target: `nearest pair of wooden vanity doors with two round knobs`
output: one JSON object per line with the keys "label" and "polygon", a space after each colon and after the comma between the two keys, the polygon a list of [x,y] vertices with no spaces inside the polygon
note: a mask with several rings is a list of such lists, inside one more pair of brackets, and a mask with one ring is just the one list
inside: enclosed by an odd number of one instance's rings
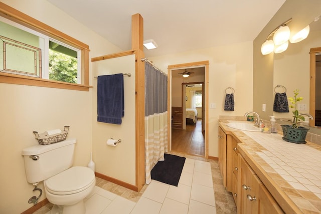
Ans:
{"label": "nearest pair of wooden vanity doors with two round knobs", "polygon": [[241,154],[238,164],[237,213],[284,213]]}

